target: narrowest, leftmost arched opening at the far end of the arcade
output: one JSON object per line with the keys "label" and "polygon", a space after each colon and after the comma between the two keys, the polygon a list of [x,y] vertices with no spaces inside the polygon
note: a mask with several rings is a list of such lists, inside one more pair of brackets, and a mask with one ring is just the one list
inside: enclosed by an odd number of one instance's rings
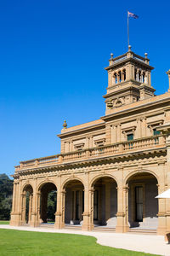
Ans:
{"label": "narrowest, leftmost arched opening at the far end of the arcade", "polygon": [[22,218],[23,224],[31,223],[32,197],[33,197],[33,189],[30,184],[27,184],[23,189],[23,194],[22,194],[21,218]]}

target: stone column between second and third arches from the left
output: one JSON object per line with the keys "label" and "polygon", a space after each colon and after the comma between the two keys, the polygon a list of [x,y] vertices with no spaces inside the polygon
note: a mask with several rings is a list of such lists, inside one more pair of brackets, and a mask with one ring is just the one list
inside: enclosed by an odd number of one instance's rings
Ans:
{"label": "stone column between second and third arches from the left", "polygon": [[55,229],[63,229],[65,227],[65,189],[57,191],[57,212],[55,212]]}

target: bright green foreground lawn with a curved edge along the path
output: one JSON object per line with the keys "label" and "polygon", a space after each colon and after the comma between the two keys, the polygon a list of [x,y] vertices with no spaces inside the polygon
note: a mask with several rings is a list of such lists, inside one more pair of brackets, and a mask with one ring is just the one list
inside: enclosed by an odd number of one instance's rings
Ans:
{"label": "bright green foreground lawn with a curved edge along the path", "polygon": [[100,246],[93,236],[0,230],[1,256],[146,256]]}

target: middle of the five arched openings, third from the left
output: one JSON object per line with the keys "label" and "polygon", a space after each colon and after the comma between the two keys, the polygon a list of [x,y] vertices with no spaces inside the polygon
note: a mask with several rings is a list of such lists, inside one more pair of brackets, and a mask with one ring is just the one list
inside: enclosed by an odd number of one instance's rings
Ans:
{"label": "middle of the five arched openings, third from the left", "polygon": [[84,212],[84,186],[79,180],[65,184],[65,224],[82,225]]}

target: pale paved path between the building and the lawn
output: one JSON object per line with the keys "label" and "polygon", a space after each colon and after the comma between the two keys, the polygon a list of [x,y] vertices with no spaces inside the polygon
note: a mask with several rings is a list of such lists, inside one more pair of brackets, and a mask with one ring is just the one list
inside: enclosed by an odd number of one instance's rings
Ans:
{"label": "pale paved path between the building and the lawn", "polygon": [[101,245],[122,248],[132,251],[160,254],[170,256],[170,244],[166,244],[163,236],[153,235],[135,235],[135,234],[120,234],[110,232],[94,232],[82,230],[54,230],[50,228],[31,228],[31,227],[13,227],[9,225],[0,225],[0,229],[8,230],[26,230],[37,232],[49,233],[64,233],[64,234],[77,234],[85,236],[94,236],[97,242]]}

